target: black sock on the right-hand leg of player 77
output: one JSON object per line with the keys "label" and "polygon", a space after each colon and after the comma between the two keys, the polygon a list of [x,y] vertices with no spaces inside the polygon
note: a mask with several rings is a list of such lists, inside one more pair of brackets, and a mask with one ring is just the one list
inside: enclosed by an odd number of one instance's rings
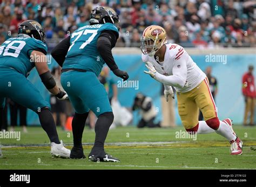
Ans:
{"label": "black sock on the right-hand leg of player 77", "polygon": [[95,124],[95,143],[90,155],[97,155],[98,153],[104,152],[104,142],[106,140],[107,133],[109,132],[109,127],[113,123],[113,119],[114,116],[112,112],[105,112],[98,116]]}

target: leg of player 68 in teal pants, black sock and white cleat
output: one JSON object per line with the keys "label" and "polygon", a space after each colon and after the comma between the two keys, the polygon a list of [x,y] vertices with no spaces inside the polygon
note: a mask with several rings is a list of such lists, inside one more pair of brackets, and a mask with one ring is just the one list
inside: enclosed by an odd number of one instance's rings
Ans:
{"label": "leg of player 68 in teal pants, black sock and white cleat", "polygon": [[[5,79],[1,84],[1,87],[5,90],[5,95],[38,114],[41,126],[51,141],[52,155],[69,157],[70,150],[66,149],[63,143],[59,141],[49,103],[43,99],[36,87],[23,75],[12,71],[6,74],[9,75],[8,80]],[[10,87],[8,87],[8,82],[11,82]]]}

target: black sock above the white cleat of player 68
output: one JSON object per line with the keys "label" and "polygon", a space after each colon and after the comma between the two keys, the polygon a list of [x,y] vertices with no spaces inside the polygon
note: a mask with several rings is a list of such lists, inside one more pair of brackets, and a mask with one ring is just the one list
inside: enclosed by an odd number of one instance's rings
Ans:
{"label": "black sock above the white cleat of player 68", "polygon": [[38,112],[39,121],[43,130],[47,133],[51,142],[59,144],[59,137],[56,130],[56,125],[52,117],[52,113],[48,108],[44,108]]}

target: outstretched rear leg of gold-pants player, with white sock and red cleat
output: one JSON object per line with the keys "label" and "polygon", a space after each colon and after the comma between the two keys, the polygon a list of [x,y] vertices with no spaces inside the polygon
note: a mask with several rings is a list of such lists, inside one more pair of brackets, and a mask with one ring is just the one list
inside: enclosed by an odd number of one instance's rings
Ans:
{"label": "outstretched rear leg of gold-pants player, with white sock and red cleat", "polygon": [[238,146],[236,149],[239,150],[233,150],[231,154],[241,154],[242,143],[240,143],[240,139],[235,135],[232,128],[232,123],[227,123],[227,121],[231,120],[226,119],[224,121],[220,121],[218,118],[217,109],[208,85],[207,78],[200,84],[199,89],[197,89],[195,93],[196,103],[203,113],[206,124],[215,130],[216,133],[224,136],[224,138],[226,138],[230,143],[234,143],[235,146]]}

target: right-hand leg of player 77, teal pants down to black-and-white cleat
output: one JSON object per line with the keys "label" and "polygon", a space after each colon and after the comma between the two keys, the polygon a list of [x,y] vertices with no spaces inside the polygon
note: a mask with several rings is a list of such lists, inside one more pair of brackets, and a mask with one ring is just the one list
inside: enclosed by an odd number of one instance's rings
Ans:
{"label": "right-hand leg of player 77, teal pants down to black-and-white cleat", "polygon": [[80,96],[83,98],[83,103],[98,117],[95,124],[95,144],[89,159],[118,162],[118,159],[106,154],[104,150],[105,139],[114,119],[107,92],[94,73],[86,72],[86,80],[88,83]]}

